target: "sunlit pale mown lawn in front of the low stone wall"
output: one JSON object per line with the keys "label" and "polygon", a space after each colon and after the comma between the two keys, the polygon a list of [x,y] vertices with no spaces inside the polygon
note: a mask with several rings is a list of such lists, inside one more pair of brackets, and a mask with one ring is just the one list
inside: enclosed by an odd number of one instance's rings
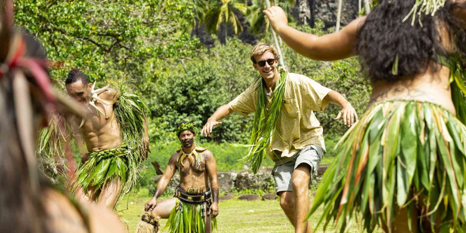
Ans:
{"label": "sunlit pale mown lawn in front of the low stone wall", "polygon": [[[119,210],[127,210],[120,212],[124,220],[127,221],[129,232],[134,233],[137,224],[140,220],[140,215],[143,213],[144,204],[149,201],[148,191],[142,189],[141,192],[128,201],[125,199],[119,204]],[[313,197],[311,196],[311,203]],[[322,214],[322,208],[320,208],[309,220],[311,226],[317,224],[318,219]],[[292,233],[294,228],[289,223],[287,217],[280,208],[280,204],[277,200],[267,201],[246,201],[246,200],[226,200],[220,201],[219,203],[219,216],[218,221],[218,232],[219,233]],[[160,226],[165,226],[166,219],[162,219]],[[164,231],[167,232],[167,231]],[[317,232],[323,232],[319,229]],[[331,227],[327,228],[326,232],[332,232]],[[349,230],[350,233],[360,233],[356,223]],[[376,231],[380,233],[380,231]]]}

